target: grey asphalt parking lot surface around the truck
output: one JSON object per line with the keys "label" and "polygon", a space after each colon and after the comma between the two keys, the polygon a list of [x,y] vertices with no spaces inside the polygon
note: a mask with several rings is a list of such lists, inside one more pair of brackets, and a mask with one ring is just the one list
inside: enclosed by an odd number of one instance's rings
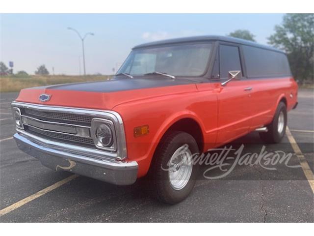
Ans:
{"label": "grey asphalt parking lot surface around the truck", "polygon": [[[16,147],[10,103],[17,93],[0,95],[1,210],[72,175],[50,170]],[[288,127],[313,172],[312,90],[299,91],[299,105],[288,113]],[[256,133],[235,142],[252,140],[261,142]],[[293,151],[288,137],[283,143]],[[299,159],[293,155],[292,161]],[[256,178],[200,179],[190,196],[174,206],[152,198],[143,180],[115,186],[78,176],[16,206],[0,216],[0,222],[314,222],[314,190],[302,168],[283,167],[281,177],[271,180],[268,170],[254,166],[235,170],[233,175],[253,172]]]}

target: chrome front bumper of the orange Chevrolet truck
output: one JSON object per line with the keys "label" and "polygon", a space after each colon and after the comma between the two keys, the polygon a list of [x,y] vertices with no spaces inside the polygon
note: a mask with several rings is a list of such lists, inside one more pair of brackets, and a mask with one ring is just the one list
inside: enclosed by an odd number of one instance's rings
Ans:
{"label": "chrome front bumper of the orange Chevrolet truck", "polygon": [[137,177],[137,162],[109,161],[91,158],[77,153],[44,147],[16,133],[18,147],[55,171],[68,171],[117,185],[130,185]]}

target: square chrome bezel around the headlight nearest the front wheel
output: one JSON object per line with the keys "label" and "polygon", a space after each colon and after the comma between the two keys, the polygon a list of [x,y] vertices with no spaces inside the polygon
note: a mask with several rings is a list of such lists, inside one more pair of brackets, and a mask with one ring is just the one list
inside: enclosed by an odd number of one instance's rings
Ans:
{"label": "square chrome bezel around the headlight nearest the front wheel", "polygon": [[[105,124],[111,131],[112,144],[110,146],[105,146],[102,142],[99,141],[97,137],[97,130],[99,126],[103,124]],[[96,148],[106,150],[106,151],[111,151],[111,152],[117,151],[116,132],[115,132],[114,123],[111,120],[103,119],[103,118],[93,118],[92,123],[91,123],[90,133],[91,133],[92,139],[94,140],[94,144]]]}

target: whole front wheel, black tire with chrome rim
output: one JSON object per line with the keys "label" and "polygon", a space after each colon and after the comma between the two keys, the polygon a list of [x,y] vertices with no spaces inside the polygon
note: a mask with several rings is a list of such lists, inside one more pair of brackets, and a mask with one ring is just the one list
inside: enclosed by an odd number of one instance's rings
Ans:
{"label": "whole front wheel, black tire with chrome rim", "polygon": [[195,184],[199,165],[193,165],[192,155],[199,149],[188,133],[173,131],[159,144],[152,163],[153,192],[164,203],[184,200]]}

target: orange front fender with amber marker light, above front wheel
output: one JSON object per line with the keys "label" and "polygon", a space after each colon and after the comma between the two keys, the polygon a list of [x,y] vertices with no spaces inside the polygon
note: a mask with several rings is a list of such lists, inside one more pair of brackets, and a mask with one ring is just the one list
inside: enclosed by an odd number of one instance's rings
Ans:
{"label": "orange front fender with amber marker light, above front wheel", "polygon": [[[216,97],[204,94],[173,94],[115,107],[124,122],[128,159],[139,166],[138,177],[147,174],[160,139],[180,119],[195,120],[201,127],[204,142],[209,139],[214,142],[217,101]],[[134,128],[142,125],[149,125],[149,134],[135,138]]]}

